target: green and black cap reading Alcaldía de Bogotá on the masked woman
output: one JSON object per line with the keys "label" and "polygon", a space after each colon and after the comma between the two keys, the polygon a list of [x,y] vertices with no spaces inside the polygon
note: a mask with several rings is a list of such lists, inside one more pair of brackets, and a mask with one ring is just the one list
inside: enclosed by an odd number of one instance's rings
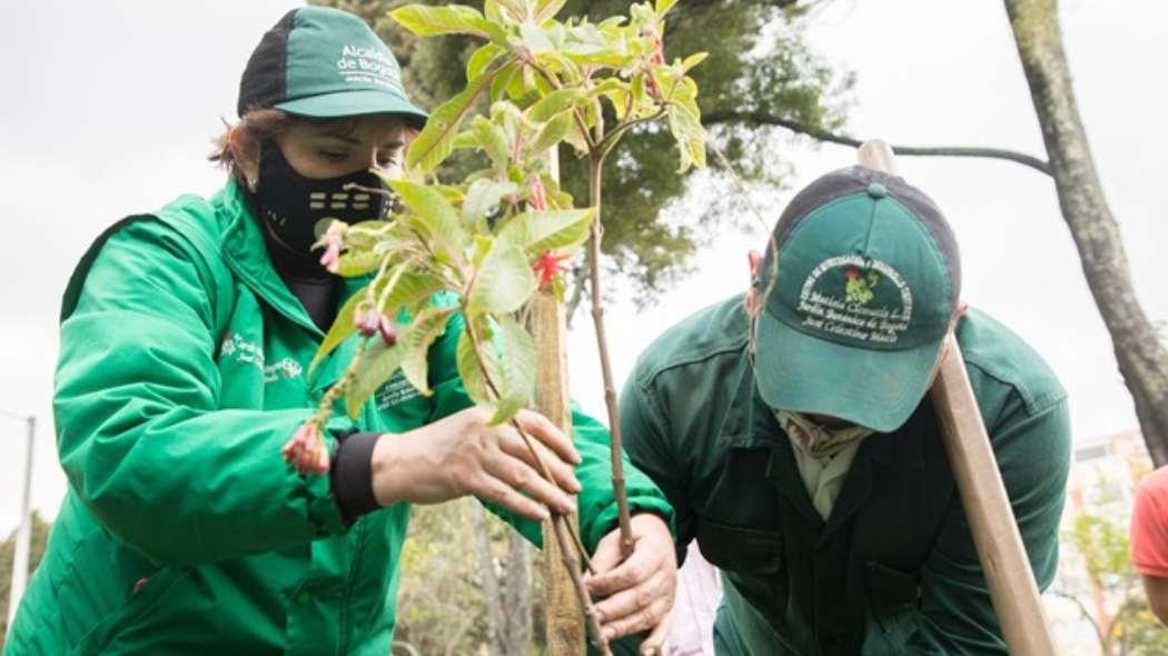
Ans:
{"label": "green and black cap reading Alcald\u00eda de Bogot\u00e1 on the masked woman", "polygon": [[401,114],[417,126],[426,113],[402,86],[389,48],[360,18],[303,7],[264,34],[239,81],[236,110],[277,109],[310,118]]}

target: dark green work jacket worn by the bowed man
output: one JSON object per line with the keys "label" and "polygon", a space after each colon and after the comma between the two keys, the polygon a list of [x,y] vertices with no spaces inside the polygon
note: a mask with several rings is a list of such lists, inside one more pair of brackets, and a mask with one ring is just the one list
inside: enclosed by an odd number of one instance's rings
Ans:
{"label": "dark green work jacket worn by the bowed man", "polygon": [[[755,391],[742,298],[670,328],[621,402],[625,448],[723,571],[718,654],[1004,654],[931,404],[865,438],[827,522]],[[989,316],[957,330],[1038,586],[1057,563],[1065,392]]]}

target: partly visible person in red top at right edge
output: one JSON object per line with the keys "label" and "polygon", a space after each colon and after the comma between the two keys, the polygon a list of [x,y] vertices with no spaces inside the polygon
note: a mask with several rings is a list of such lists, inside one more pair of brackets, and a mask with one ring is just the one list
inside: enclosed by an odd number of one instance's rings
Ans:
{"label": "partly visible person in red top at right edge", "polygon": [[1168,467],[1140,482],[1132,512],[1132,564],[1152,612],[1168,624]]}

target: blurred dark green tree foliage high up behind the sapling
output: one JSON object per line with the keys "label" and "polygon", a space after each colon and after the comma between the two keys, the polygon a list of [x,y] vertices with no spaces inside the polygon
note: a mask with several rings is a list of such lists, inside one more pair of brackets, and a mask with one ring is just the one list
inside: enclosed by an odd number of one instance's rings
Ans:
{"label": "blurred dark green tree foliage high up behind the sapling", "polygon": [[[387,13],[406,0],[310,0],[364,18],[390,46],[412,98],[433,109],[465,86],[464,63],[475,43],[461,36],[419,40]],[[447,4],[424,0],[427,4]],[[467,1],[481,8],[481,1]],[[569,0],[564,15],[592,19],[625,13],[628,0]],[[835,130],[843,124],[849,74],[812,50],[805,37],[818,4],[792,0],[680,0],[670,12],[666,58],[709,53],[693,76],[701,88],[702,114],[749,111]],[[736,123],[709,125],[711,145],[722,148],[753,194],[778,191],[790,172],[781,128]],[[463,154],[463,158],[474,156]],[[588,197],[586,162],[561,149],[564,188]],[[712,160],[716,163],[716,159]],[[477,165],[456,156],[444,172],[458,175]],[[717,167],[715,167],[717,168]],[[667,130],[646,126],[627,135],[604,172],[604,252],[611,271],[632,289],[638,305],[651,303],[689,271],[697,247],[730,225],[756,225],[722,170],[675,175],[676,151]],[[693,190],[693,193],[688,193]],[[766,217],[769,222],[776,217]],[[579,281],[583,267],[573,267]],[[575,303],[569,303],[570,309]]]}

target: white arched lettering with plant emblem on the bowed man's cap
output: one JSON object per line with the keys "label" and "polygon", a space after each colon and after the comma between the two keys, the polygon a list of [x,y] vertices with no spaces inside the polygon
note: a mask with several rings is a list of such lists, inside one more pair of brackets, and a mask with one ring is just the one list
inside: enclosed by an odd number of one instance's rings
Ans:
{"label": "white arched lettering with plant emblem on the bowed man's cap", "polygon": [[[816,291],[819,279],[839,267],[848,267],[848,282],[840,286],[839,293],[834,293],[836,289]],[[901,307],[869,305],[875,298],[872,288],[881,282],[896,287]],[[912,289],[885,261],[856,254],[836,256],[819,263],[807,275],[797,310],[808,328],[863,342],[895,344],[912,320]]]}

